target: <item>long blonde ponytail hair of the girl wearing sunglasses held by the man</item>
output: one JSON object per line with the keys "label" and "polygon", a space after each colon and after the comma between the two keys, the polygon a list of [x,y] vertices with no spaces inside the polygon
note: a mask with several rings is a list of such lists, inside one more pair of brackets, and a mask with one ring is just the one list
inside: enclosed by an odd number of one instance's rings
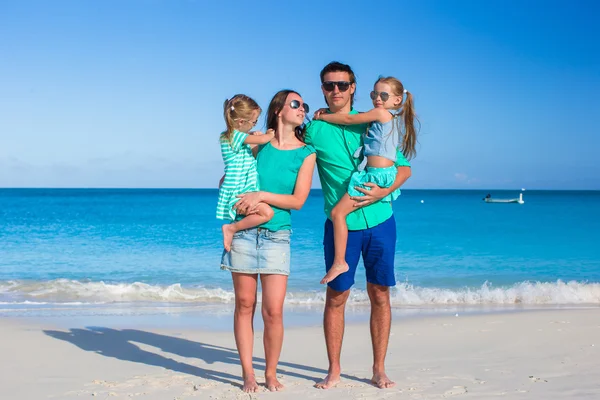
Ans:
{"label": "long blonde ponytail hair of the girl wearing sunglasses held by the man", "polygon": [[[414,109],[413,95],[409,91],[406,91],[406,100],[404,100],[404,85],[400,80],[393,76],[381,76],[377,79],[375,84],[378,84],[379,82],[387,83],[392,88],[394,95],[402,97],[402,102],[398,107],[399,111],[394,114],[394,124],[396,124],[398,130],[398,141],[400,142],[402,154],[410,160],[417,155],[417,150],[415,149],[417,145],[417,129],[415,127],[415,121],[419,124],[420,128],[420,122]],[[404,134],[402,134],[403,125]]]}

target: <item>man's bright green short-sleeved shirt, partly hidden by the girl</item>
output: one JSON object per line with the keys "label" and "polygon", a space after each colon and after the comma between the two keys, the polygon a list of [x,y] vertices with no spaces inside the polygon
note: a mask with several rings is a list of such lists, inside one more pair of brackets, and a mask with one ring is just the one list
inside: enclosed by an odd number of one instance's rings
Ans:
{"label": "man's bright green short-sleeved shirt, partly hidden by the girl", "polygon": [[[353,109],[350,114],[358,112]],[[331,218],[331,210],[348,191],[350,175],[356,171],[359,162],[353,155],[362,146],[363,134],[367,127],[368,124],[335,125],[313,120],[306,129],[306,144],[313,146],[317,152],[317,169],[327,218]],[[396,166],[410,167],[400,150],[397,152]],[[346,218],[346,222],[349,230],[357,231],[379,225],[391,216],[391,203],[378,201],[353,211]]]}

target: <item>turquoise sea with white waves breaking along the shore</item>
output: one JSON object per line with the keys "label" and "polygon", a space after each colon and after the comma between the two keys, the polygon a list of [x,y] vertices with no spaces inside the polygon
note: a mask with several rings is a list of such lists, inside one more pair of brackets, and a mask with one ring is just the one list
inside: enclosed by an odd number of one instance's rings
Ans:
{"label": "turquoise sea with white waves breaking along the shore", "polygon": [[[394,307],[600,304],[600,192],[525,191],[522,205],[486,193],[403,191]],[[212,189],[0,189],[0,308],[230,305],[216,201]],[[293,214],[290,306],[323,301],[322,208],[313,190]],[[357,282],[360,305],[360,268]]]}

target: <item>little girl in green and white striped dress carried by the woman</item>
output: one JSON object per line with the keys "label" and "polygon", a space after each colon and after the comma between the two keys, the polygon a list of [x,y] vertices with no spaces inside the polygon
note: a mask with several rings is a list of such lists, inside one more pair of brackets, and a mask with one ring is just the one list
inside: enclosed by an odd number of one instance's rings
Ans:
{"label": "little girl in green and white striped dress carried by the woman", "polygon": [[223,105],[223,116],[227,130],[221,133],[221,155],[225,164],[225,177],[219,188],[217,218],[230,221],[223,225],[223,246],[229,251],[233,235],[241,230],[264,224],[273,218],[273,210],[265,203],[259,203],[255,210],[244,216],[238,216],[234,209],[239,195],[255,192],[258,187],[256,159],[252,147],[271,141],[274,131],[266,134],[251,132],[256,125],[261,108],[250,97],[236,94]]}

